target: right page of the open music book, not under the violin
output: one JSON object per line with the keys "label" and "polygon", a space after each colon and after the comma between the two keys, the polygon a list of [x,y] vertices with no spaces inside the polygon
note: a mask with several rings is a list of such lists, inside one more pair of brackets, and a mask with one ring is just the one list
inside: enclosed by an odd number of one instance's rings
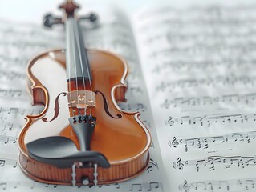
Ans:
{"label": "right page of the open music book, not under the violin", "polygon": [[255,191],[255,13],[172,3],[136,16],[168,191]]}

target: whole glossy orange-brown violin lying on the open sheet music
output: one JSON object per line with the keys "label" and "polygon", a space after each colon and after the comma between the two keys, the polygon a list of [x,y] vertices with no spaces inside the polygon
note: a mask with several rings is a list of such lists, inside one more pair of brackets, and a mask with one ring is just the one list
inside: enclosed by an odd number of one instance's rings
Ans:
{"label": "whole glossy orange-brown violin lying on the open sheet music", "polygon": [[48,50],[27,67],[37,115],[27,115],[18,136],[19,165],[38,182],[98,185],[122,182],[148,165],[151,137],[138,112],[120,110],[125,102],[128,66],[115,54],[87,50],[79,6],[67,0],[63,18],[47,15],[45,26],[63,23],[66,49]]}

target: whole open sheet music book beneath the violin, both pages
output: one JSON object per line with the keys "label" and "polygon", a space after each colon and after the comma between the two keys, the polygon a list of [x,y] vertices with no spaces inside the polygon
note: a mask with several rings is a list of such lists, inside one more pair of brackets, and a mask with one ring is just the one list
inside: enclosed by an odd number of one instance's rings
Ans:
{"label": "whole open sheet music book beneath the violin, both pages", "polygon": [[134,17],[103,10],[95,9],[95,26],[81,23],[85,44],[128,62],[128,102],[119,106],[140,111],[150,130],[148,167],[103,186],[27,178],[18,166],[17,136],[26,114],[43,108],[30,105],[26,65],[44,50],[63,48],[65,37],[63,26],[0,20],[0,190],[255,191],[256,4],[168,2]]}

